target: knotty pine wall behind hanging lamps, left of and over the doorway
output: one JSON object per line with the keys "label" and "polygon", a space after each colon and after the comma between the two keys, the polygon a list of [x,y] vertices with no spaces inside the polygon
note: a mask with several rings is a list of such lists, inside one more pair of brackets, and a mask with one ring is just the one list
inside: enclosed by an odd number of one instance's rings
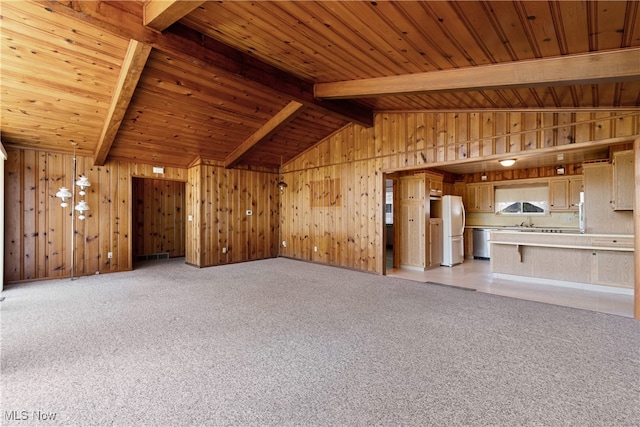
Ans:
{"label": "knotty pine wall behind hanging lamps, left of and over the doorway", "polygon": [[[68,277],[72,241],[77,276],[132,268],[131,179],[156,177],[151,165],[108,162],[95,167],[92,159],[77,156],[77,175],[91,181],[84,198],[90,210],[84,221],[75,218],[72,238],[72,206],[62,208],[55,195],[60,187],[73,186],[73,155],[12,147],[7,154],[5,282]],[[165,168],[164,177],[184,181],[186,172]]]}

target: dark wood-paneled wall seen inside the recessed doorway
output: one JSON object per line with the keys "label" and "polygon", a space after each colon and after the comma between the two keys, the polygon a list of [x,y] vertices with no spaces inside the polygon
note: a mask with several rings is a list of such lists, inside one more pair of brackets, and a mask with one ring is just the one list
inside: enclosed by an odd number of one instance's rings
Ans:
{"label": "dark wood-paneled wall seen inside the recessed doorway", "polygon": [[133,179],[133,256],[185,256],[185,183]]}

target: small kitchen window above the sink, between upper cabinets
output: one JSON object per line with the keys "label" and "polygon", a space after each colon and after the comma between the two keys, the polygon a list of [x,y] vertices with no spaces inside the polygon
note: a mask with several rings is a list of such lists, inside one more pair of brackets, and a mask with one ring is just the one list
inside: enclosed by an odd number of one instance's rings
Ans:
{"label": "small kitchen window above the sink, between upper cabinets", "polygon": [[496,187],[494,198],[497,215],[549,214],[548,185]]}

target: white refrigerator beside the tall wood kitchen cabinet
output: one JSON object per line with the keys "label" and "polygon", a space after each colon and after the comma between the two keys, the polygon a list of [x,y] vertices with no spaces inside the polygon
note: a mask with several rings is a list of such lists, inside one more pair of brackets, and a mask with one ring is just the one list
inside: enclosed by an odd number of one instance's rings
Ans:
{"label": "white refrigerator beside the tall wood kitchen cabinet", "polygon": [[452,267],[464,261],[465,213],[462,197],[442,196],[442,264]]}

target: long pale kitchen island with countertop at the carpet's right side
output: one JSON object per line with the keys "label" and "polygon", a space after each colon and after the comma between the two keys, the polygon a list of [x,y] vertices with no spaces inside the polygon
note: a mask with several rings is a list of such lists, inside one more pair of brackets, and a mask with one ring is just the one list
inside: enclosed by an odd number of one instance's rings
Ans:
{"label": "long pale kitchen island with countertop at the carpet's right side", "polygon": [[495,275],[634,286],[633,235],[495,230],[490,243]]}

